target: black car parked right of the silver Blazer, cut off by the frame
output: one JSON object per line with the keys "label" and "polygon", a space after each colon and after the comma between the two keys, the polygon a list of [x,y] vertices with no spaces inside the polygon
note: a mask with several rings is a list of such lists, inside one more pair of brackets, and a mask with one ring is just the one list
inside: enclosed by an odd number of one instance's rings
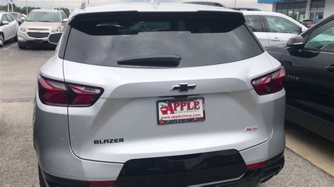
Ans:
{"label": "black car parked right of the silver Blazer, cut off by the frame", "polygon": [[286,119],[334,142],[334,15],[266,50],[286,70]]}

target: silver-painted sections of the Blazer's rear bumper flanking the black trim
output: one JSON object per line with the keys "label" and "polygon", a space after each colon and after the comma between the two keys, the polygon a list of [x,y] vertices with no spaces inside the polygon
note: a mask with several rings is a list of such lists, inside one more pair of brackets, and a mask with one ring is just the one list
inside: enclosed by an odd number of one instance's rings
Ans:
{"label": "silver-painted sections of the Blazer's rear bumper flanking the black trim", "polygon": [[[281,111],[285,107],[284,95],[284,91],[273,95],[276,100],[275,111]],[[37,95],[34,119],[34,146],[39,158],[39,165],[45,173],[60,179],[76,181],[116,181],[119,179],[124,166],[123,162],[85,160],[73,153],[68,136],[67,108],[44,105]],[[252,165],[271,160],[271,158],[280,155],[284,149],[284,112],[276,112],[271,138],[259,145],[238,150],[238,153],[245,165]],[[198,153],[204,152],[206,151]],[[242,176],[242,179],[247,176],[248,172]],[[256,174],[256,176],[261,176],[261,174]],[[234,178],[234,176],[230,177],[230,179]]]}

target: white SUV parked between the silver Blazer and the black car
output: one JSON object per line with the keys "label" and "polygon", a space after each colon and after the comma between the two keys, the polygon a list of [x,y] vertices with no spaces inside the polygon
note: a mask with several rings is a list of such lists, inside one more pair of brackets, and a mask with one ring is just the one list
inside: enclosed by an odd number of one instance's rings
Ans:
{"label": "white SUV parked between the silver Blazer and the black car", "polygon": [[246,23],[263,46],[286,44],[287,40],[307,30],[287,15],[263,11],[242,11]]}

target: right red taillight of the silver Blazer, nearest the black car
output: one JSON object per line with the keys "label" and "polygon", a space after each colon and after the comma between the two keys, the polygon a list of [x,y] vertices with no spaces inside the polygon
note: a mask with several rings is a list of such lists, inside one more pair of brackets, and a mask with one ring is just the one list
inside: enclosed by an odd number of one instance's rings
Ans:
{"label": "right red taillight of the silver Blazer, nearest the black car", "polygon": [[285,77],[285,69],[281,67],[280,70],[252,80],[252,84],[257,94],[260,96],[275,93],[283,90]]}

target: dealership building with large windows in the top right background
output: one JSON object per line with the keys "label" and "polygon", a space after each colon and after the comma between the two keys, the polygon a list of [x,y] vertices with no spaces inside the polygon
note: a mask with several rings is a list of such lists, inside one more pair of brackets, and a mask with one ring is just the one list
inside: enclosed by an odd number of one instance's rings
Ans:
{"label": "dealership building with large windows in the top right background", "polygon": [[283,13],[302,22],[305,19],[322,20],[334,14],[334,0],[258,0],[273,4],[273,12]]}

